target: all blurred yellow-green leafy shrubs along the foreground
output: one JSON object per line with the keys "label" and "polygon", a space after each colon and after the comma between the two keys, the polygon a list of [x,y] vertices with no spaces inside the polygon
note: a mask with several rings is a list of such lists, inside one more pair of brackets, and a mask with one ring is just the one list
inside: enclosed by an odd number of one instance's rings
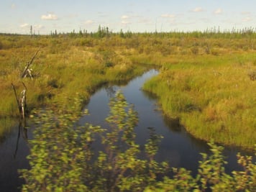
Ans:
{"label": "all blurred yellow-green leafy shrubs along the foreground", "polygon": [[[223,147],[212,142],[212,155],[202,154],[198,175],[185,168],[172,168],[166,175],[167,163],[157,163],[155,154],[160,136],[150,129],[145,145],[145,159],[139,158],[140,146],[135,140],[137,113],[117,92],[110,101],[106,118],[109,129],[86,124],[79,127],[80,99],[56,114],[40,111],[35,119],[41,127],[29,155],[30,170],[21,170],[26,184],[22,191],[254,191],[256,165],[252,157],[237,155],[244,170],[225,173]],[[103,150],[93,151],[93,142],[101,140]],[[163,177],[164,176],[164,177]]]}

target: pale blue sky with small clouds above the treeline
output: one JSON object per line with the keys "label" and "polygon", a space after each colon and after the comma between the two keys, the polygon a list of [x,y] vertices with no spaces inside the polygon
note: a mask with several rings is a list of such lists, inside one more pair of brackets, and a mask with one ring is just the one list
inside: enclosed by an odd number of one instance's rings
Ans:
{"label": "pale blue sky with small clouds above the treeline", "polygon": [[256,28],[256,0],[1,0],[0,33]]}

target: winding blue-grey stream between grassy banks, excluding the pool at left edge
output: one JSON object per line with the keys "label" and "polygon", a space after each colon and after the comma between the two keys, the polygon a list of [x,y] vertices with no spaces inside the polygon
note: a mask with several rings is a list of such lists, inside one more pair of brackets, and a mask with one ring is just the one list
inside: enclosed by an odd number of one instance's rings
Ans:
{"label": "winding blue-grey stream between grassy banks, excluding the pool at left edge", "polygon": [[[157,154],[157,160],[168,160],[173,167],[183,167],[192,170],[196,174],[198,161],[201,160],[201,152],[209,154],[209,146],[206,142],[196,140],[188,134],[184,127],[178,124],[175,119],[169,119],[163,116],[162,111],[158,110],[157,99],[141,90],[143,83],[152,76],[156,76],[156,70],[150,70],[143,76],[134,78],[127,86],[106,86],[93,94],[89,104],[86,106],[89,116],[84,116],[81,123],[89,122],[95,125],[107,127],[104,119],[109,114],[109,99],[114,93],[121,90],[129,104],[134,104],[134,109],[139,114],[139,124],[135,128],[137,133],[137,143],[145,144],[149,137],[147,127],[154,127],[157,134],[163,135],[160,142],[160,149]],[[238,170],[237,152],[234,148],[225,148],[224,155],[227,157],[228,165],[226,170],[230,173],[232,170]],[[253,153],[242,152],[242,154],[253,155]]]}

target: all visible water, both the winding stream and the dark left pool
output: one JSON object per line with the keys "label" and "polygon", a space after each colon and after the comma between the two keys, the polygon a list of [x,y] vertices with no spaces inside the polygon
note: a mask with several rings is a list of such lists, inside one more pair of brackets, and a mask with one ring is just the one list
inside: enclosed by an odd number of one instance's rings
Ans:
{"label": "all visible water, both the winding stream and the dark left pool", "polygon": [[[198,160],[201,160],[200,152],[209,153],[206,142],[196,140],[180,126],[177,121],[163,116],[157,110],[157,100],[149,93],[140,90],[142,84],[152,76],[157,75],[156,70],[150,70],[143,76],[134,78],[126,86],[106,86],[100,88],[93,94],[90,102],[86,106],[90,116],[81,118],[81,124],[88,122],[94,125],[105,127],[105,118],[109,114],[109,99],[114,96],[117,90],[122,90],[129,104],[134,104],[135,110],[139,114],[140,122],[135,131],[137,133],[137,143],[145,144],[149,137],[147,127],[154,127],[157,134],[164,136],[160,143],[160,150],[157,160],[168,160],[173,167],[183,167],[196,174]],[[20,131],[20,132],[19,132]],[[20,134],[19,134],[20,133]],[[19,126],[12,127],[4,137],[0,138],[0,192],[20,191],[23,180],[19,179],[18,169],[29,168],[26,156],[29,154],[29,147],[26,139],[22,137],[22,129]],[[18,139],[18,136],[19,139]],[[27,137],[32,138],[32,129],[28,129]],[[225,148],[224,155],[227,157],[227,172],[239,169],[236,154],[239,150]],[[253,155],[249,152],[242,154]]]}

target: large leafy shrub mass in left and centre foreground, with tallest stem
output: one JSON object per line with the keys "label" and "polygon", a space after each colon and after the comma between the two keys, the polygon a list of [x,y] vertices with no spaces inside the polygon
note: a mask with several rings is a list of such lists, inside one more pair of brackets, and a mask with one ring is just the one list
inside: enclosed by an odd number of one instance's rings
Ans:
{"label": "large leafy shrub mass in left and centre foreground, with tallest stem", "polygon": [[[109,104],[109,130],[90,124],[78,127],[81,101],[75,101],[58,114],[51,110],[37,113],[35,120],[42,126],[30,141],[31,169],[22,170],[23,191],[143,191],[167,170],[166,163],[154,160],[160,137],[152,129],[145,145],[147,159],[138,158],[140,149],[134,142],[137,113],[122,93],[116,93]],[[104,146],[99,152],[91,147],[96,135]]]}

